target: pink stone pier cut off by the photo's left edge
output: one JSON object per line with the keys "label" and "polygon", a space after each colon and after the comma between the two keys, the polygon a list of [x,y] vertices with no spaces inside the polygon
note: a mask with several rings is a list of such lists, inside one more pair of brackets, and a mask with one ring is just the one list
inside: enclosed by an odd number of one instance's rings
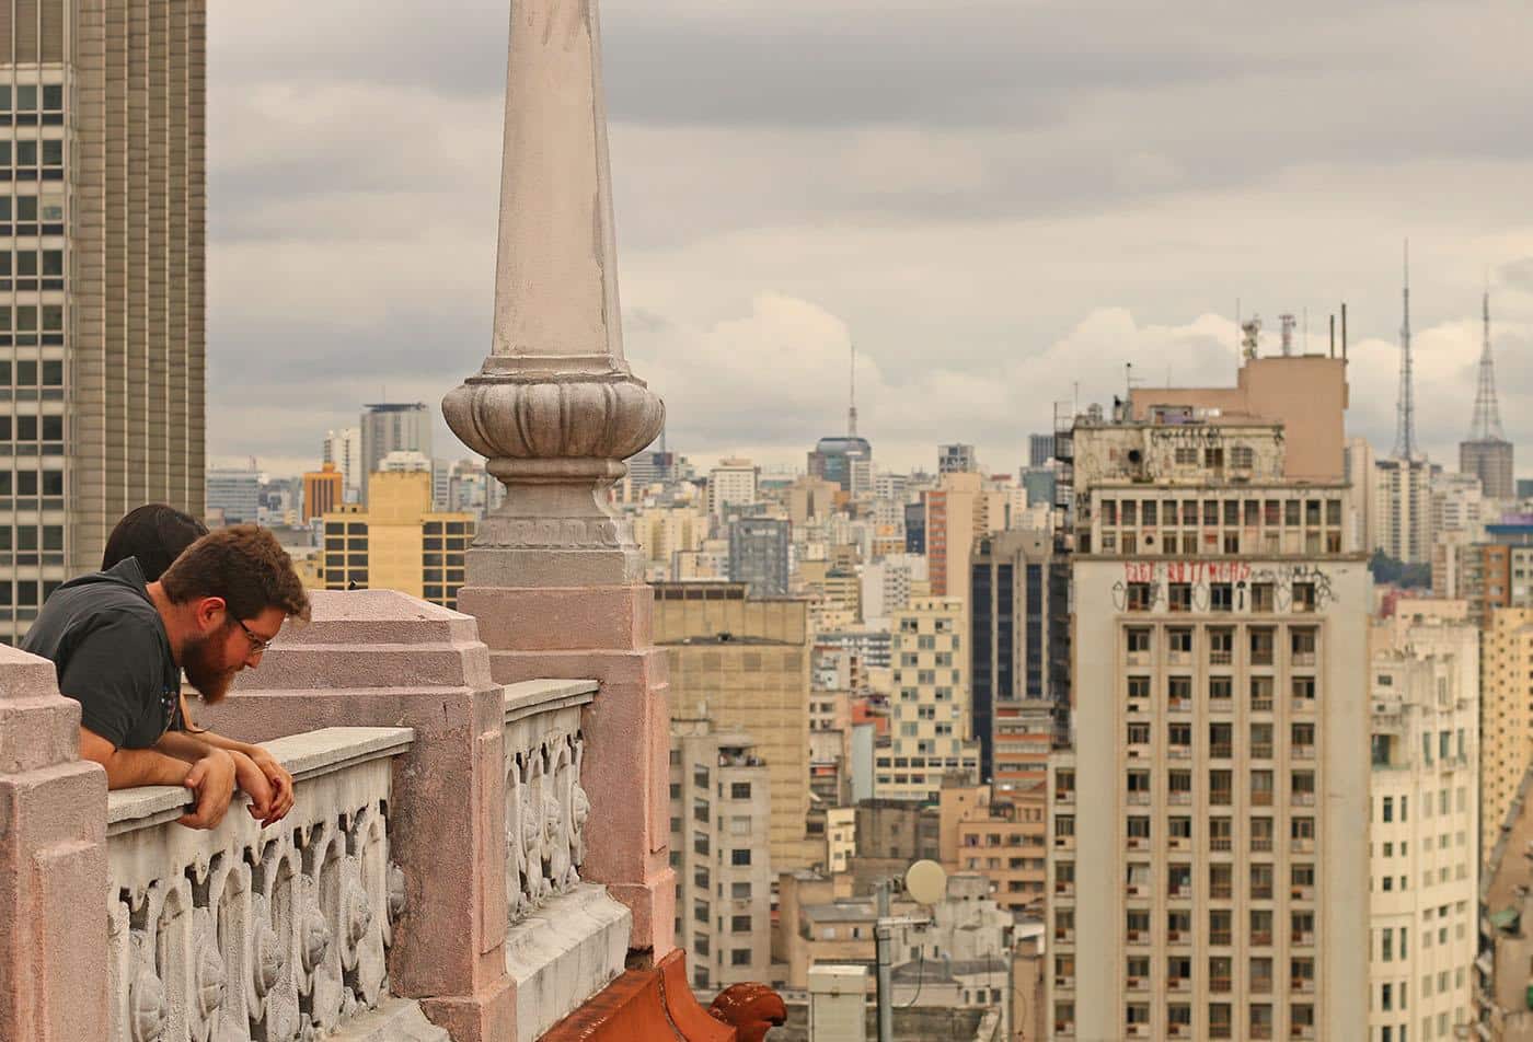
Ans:
{"label": "pink stone pier cut off by the photo's left edge", "polygon": [[106,772],[54,665],[0,645],[0,1039],[106,1039]]}

